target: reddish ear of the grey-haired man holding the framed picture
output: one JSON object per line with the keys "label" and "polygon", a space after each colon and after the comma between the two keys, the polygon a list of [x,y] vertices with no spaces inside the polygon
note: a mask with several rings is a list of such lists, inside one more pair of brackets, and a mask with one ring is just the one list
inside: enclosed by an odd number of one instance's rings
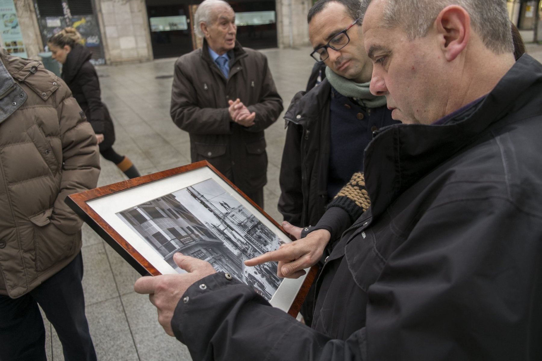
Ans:
{"label": "reddish ear of the grey-haired man holding the framed picture", "polygon": [[470,16],[461,6],[449,5],[438,14],[435,24],[438,35],[442,37],[442,52],[447,61],[452,61],[467,47]]}

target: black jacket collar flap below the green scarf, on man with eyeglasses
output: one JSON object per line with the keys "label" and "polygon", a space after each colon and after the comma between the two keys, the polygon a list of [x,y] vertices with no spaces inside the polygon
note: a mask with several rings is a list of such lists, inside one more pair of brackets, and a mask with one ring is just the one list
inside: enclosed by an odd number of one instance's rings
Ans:
{"label": "black jacket collar flap below the green scarf, on man with eyeglasses", "polygon": [[331,84],[327,78],[308,92],[300,91],[294,96],[284,115],[286,126],[288,122],[292,122],[306,128],[313,123],[313,120],[321,119],[324,108],[330,103],[330,93]]}

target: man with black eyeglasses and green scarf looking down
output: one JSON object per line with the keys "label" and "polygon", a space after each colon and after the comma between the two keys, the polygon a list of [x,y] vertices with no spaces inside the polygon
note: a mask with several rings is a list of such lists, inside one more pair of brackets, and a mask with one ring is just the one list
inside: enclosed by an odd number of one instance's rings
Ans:
{"label": "man with black eyeglasses and green scarf looking down", "polygon": [[[311,56],[327,67],[326,78],[298,93],[285,115],[279,211],[294,226],[315,225],[352,174],[363,172],[363,150],[373,132],[397,123],[385,97],[369,91],[372,62],[358,11],[358,0],[320,0],[307,16]],[[348,197],[334,205],[347,212],[359,208]]]}

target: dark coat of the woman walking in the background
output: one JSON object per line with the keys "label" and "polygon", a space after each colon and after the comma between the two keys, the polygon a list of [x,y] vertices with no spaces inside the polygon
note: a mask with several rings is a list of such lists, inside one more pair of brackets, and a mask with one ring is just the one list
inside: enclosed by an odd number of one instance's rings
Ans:
{"label": "dark coat of the woman walking in the background", "polygon": [[91,52],[81,44],[76,44],[68,52],[62,65],[62,80],[72,90],[73,97],[91,123],[96,134],[104,134],[100,149],[107,149],[115,142],[115,129],[109,111],[100,96],[100,82],[91,60]]}

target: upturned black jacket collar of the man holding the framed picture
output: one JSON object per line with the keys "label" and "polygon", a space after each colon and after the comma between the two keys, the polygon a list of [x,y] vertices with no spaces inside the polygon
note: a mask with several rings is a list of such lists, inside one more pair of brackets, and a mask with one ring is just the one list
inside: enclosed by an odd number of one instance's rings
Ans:
{"label": "upturned black jacket collar of the man holding the framed picture", "polygon": [[539,97],[541,82],[542,64],[524,55],[483,101],[456,114],[446,124],[382,128],[364,154],[373,215],[382,213],[430,170],[479,139],[492,124]]}

